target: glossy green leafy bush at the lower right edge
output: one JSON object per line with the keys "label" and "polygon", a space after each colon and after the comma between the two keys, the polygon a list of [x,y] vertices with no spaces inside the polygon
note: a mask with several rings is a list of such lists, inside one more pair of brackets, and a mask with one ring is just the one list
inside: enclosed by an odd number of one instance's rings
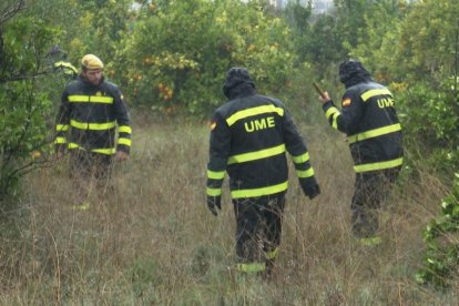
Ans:
{"label": "glossy green leafy bush at the lower right edge", "polygon": [[427,244],[422,267],[416,275],[419,284],[436,287],[450,285],[459,274],[459,173],[451,194],[441,203],[441,216],[432,220],[424,231]]}

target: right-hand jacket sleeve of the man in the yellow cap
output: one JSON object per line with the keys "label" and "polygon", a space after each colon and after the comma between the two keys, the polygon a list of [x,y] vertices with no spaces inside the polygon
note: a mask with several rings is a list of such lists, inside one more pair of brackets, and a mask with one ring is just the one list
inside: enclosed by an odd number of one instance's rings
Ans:
{"label": "right-hand jacket sleeve of the man in the yellow cap", "polygon": [[118,143],[116,151],[123,151],[130,153],[131,151],[131,119],[129,115],[128,106],[124,102],[124,95],[115,88],[114,91],[114,106],[118,123]]}

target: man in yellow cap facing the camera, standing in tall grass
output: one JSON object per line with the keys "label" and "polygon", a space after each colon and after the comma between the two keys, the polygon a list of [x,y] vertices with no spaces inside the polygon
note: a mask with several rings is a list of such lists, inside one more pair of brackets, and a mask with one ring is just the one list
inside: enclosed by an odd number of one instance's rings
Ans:
{"label": "man in yellow cap facing the camera, standing in tall grass", "polygon": [[84,55],[81,73],[67,84],[59,108],[57,155],[69,151],[71,176],[80,182],[109,177],[113,160],[125,161],[130,154],[129,111],[120,89],[104,80],[103,67],[98,57]]}

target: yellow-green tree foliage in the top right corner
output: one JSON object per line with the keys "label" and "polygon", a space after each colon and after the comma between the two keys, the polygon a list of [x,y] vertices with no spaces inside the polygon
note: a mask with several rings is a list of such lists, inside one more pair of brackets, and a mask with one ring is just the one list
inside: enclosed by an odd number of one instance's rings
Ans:
{"label": "yellow-green tree foliage in the top right corner", "polygon": [[436,86],[447,75],[457,74],[458,14],[458,1],[415,1],[388,57],[398,80],[425,80]]}

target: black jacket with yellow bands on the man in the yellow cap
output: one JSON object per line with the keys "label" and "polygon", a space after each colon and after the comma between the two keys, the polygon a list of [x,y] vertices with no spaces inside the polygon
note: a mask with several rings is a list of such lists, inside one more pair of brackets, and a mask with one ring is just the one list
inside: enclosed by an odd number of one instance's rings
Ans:
{"label": "black jacket with yellow bands on the man in the yellow cap", "polygon": [[57,150],[80,149],[106,155],[130,152],[130,116],[123,94],[115,84],[104,80],[93,85],[80,75],[65,86],[55,131]]}

